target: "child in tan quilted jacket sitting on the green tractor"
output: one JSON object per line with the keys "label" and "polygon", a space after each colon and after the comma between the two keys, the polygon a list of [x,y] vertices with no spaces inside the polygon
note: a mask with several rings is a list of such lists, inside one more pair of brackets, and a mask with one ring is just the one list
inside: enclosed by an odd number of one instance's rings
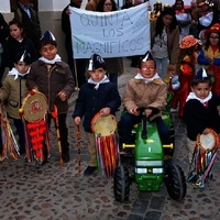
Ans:
{"label": "child in tan quilted jacket sitting on the green tractor", "polygon": [[162,110],[166,106],[167,88],[156,72],[156,63],[147,52],[141,58],[138,74],[124,89],[123,105],[127,113],[121,118],[121,141],[133,144],[131,131],[134,124],[141,122],[139,107],[147,107],[146,117],[156,122],[163,144],[170,144],[169,130],[162,120]]}

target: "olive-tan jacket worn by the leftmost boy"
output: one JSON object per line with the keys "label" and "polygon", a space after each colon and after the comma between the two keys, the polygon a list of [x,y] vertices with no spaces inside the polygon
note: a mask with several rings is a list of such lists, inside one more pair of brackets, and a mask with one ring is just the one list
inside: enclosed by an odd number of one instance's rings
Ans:
{"label": "olive-tan jacket worn by the leftmost boy", "polygon": [[8,99],[7,112],[13,119],[21,119],[19,109],[22,107],[22,100],[28,96],[29,89],[25,86],[26,75],[19,76],[14,80],[14,76],[7,76],[0,89],[0,100],[3,102]]}

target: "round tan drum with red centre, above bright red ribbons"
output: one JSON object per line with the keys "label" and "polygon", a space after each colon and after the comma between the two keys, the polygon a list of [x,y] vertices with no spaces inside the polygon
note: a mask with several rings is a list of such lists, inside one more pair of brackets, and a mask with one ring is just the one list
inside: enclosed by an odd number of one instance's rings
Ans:
{"label": "round tan drum with red centre, above bright red ribbons", "polygon": [[23,100],[22,117],[28,122],[38,122],[47,112],[46,97],[38,91],[31,91]]}

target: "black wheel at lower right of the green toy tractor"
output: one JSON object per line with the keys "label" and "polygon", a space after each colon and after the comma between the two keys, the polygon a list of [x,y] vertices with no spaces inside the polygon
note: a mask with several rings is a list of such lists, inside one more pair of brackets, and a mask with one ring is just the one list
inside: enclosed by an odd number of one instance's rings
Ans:
{"label": "black wheel at lower right of the green toy tractor", "polygon": [[180,166],[169,160],[165,162],[165,185],[169,197],[183,200],[186,196],[186,178]]}

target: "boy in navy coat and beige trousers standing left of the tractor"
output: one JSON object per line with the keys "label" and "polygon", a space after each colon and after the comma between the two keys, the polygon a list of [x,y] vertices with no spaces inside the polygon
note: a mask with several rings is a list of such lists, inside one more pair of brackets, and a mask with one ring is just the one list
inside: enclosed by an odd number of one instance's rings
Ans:
{"label": "boy in navy coat and beige trousers standing left of the tractor", "polygon": [[79,124],[84,119],[84,129],[87,133],[89,145],[89,164],[84,172],[85,176],[90,176],[97,168],[95,135],[91,132],[91,120],[94,116],[101,112],[103,117],[116,113],[121,105],[121,98],[117,86],[110,82],[107,74],[107,66],[101,56],[94,54],[90,58],[88,82],[82,85],[76,100],[73,113],[74,122]]}

